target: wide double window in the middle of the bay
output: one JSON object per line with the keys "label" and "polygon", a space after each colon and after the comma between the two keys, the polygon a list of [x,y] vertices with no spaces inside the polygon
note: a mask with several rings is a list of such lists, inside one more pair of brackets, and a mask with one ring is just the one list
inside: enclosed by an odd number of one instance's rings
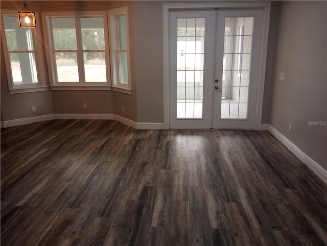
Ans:
{"label": "wide double window in the middle of the bay", "polygon": [[52,89],[110,89],[107,13],[48,12],[43,18]]}

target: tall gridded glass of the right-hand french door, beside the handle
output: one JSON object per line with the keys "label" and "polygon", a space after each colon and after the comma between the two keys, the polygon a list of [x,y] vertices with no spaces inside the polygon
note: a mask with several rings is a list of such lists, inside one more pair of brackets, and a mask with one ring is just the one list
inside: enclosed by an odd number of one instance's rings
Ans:
{"label": "tall gridded glass of the right-hand french door, beside the handle", "polygon": [[254,17],[225,18],[222,119],[246,119]]}

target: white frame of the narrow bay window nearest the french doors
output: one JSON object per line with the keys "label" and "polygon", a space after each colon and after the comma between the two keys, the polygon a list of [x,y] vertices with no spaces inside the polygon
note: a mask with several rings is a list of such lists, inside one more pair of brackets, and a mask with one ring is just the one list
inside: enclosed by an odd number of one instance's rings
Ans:
{"label": "white frame of the narrow bay window nearest the french doors", "polygon": [[[118,17],[125,16],[125,35],[126,35],[126,50],[120,50],[119,47],[119,23]],[[121,7],[108,10],[108,27],[109,27],[109,46],[111,60],[111,80],[112,90],[131,94],[131,69],[130,69],[130,42],[129,42],[129,18],[128,7]],[[120,83],[119,77],[119,58],[121,52],[127,54],[127,84]]]}

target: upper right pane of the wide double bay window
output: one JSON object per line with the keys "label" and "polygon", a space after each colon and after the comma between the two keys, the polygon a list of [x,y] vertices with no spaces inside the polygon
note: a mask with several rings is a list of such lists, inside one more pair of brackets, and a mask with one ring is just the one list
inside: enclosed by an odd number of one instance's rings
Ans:
{"label": "upper right pane of the wide double bay window", "polygon": [[104,50],[103,18],[81,18],[83,50]]}

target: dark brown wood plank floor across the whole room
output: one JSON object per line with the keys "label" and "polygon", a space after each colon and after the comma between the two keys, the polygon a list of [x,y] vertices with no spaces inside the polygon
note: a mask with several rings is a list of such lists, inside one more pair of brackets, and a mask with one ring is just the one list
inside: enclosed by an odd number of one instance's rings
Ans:
{"label": "dark brown wood plank floor across the whole room", "polygon": [[2,245],[326,245],[327,186],[270,133],[1,130]]}

